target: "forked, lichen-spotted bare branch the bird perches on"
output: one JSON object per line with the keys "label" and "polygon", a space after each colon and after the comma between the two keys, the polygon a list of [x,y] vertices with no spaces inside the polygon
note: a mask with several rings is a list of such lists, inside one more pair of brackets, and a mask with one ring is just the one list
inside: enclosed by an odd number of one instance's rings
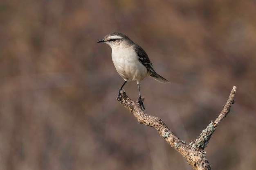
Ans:
{"label": "forked, lichen-spotted bare branch the bird perches on", "polygon": [[171,129],[169,129],[162,119],[155,116],[150,116],[146,114],[139,105],[132,101],[124,91],[120,92],[121,100],[117,99],[126,109],[132,113],[138,122],[151,126],[157,130],[157,132],[168,142],[171,147],[173,147],[177,152],[179,152],[192,166],[193,170],[210,170],[211,166],[206,159],[204,148],[208,144],[211,135],[214,133],[218,124],[223,120],[230,111],[231,105],[234,104],[234,97],[236,94],[236,86],[233,87],[229,99],[227,100],[226,105],[222,109],[218,118],[207,126],[206,129],[202,131],[200,136],[195,139],[190,144],[186,144],[184,141],[179,139],[173,134]]}

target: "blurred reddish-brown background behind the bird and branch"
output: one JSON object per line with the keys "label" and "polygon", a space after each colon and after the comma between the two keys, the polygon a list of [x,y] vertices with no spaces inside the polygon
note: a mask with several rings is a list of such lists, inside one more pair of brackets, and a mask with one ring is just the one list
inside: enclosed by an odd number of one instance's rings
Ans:
{"label": "blurred reddish-brown background behind the bird and branch", "polygon": [[[256,2],[2,0],[0,170],[191,170],[155,129],[115,100],[111,48],[122,32],[158,74],[141,82],[146,113],[189,143],[235,104],[205,149],[214,170],[256,166]],[[126,94],[138,98],[136,82]]]}

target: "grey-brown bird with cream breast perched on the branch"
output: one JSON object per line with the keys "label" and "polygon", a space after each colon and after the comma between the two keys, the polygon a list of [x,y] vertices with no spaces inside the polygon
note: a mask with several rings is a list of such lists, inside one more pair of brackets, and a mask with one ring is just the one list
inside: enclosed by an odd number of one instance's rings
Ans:
{"label": "grey-brown bird with cream breast perched on the branch", "polygon": [[142,110],[145,110],[141,100],[139,83],[147,76],[153,77],[160,83],[170,83],[164,77],[157,74],[153,68],[148,54],[135,44],[129,37],[123,33],[113,32],[106,35],[97,43],[106,43],[112,49],[112,61],[118,74],[124,79],[124,84],[119,89],[117,98],[121,101],[120,92],[128,81],[137,81],[139,89],[139,98],[137,103]]}

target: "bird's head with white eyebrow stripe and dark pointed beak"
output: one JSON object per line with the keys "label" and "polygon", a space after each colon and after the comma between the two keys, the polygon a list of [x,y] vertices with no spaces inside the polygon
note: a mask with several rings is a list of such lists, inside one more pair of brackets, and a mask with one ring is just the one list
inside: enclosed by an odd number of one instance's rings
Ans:
{"label": "bird's head with white eyebrow stripe and dark pointed beak", "polygon": [[119,32],[114,32],[106,35],[103,39],[99,40],[97,43],[106,43],[111,48],[120,47],[120,46],[132,46],[134,42],[130,40],[126,35]]}

